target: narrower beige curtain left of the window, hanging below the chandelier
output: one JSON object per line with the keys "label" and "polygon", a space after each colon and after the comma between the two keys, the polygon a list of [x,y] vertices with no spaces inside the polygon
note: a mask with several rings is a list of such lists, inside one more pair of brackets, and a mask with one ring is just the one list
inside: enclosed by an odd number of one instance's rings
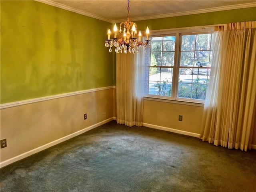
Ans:
{"label": "narrower beige curtain left of the window, hanging below the chandelier", "polygon": [[139,54],[116,54],[116,107],[117,123],[142,126],[143,50]]}

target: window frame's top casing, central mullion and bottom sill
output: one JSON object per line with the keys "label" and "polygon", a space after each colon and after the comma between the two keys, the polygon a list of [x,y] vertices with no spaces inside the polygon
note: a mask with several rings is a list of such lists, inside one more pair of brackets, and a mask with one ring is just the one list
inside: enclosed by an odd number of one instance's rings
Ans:
{"label": "window frame's top casing, central mullion and bottom sill", "polygon": [[[144,94],[146,98],[156,98],[157,100],[162,99],[167,102],[186,102],[186,103],[195,103],[195,104],[204,104],[205,100],[198,99],[190,99],[190,98],[178,98],[178,76],[179,76],[179,61],[180,61],[180,44],[181,34],[204,34],[204,33],[213,33],[214,26],[201,26],[195,28],[180,28],[174,30],[153,30],[150,32],[151,37],[163,37],[163,36],[176,36],[175,40],[175,55],[174,55],[174,66],[170,66],[173,68],[173,78],[172,78],[172,96],[161,96],[161,95],[152,95],[152,94]],[[149,67],[149,66],[145,66]]]}

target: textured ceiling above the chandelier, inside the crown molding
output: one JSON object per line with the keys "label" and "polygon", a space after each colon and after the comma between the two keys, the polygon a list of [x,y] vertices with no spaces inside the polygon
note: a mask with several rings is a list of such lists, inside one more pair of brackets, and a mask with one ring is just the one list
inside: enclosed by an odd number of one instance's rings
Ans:
{"label": "textured ceiling above the chandelier, inside the crown molding", "polygon": [[[102,20],[118,21],[127,18],[127,0],[51,0],[51,2],[64,8],[73,8],[91,14]],[[198,10],[210,12],[213,8],[231,9],[232,6],[234,8],[249,4],[256,6],[256,0],[130,0],[130,18],[133,20],[145,17],[159,18],[166,14],[192,14],[193,11]]]}

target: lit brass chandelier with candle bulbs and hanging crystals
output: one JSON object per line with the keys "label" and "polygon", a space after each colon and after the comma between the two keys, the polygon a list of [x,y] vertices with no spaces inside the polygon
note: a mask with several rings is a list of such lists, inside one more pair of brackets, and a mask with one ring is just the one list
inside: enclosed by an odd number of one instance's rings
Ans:
{"label": "lit brass chandelier with candle bulbs and hanging crystals", "polygon": [[[137,35],[137,25],[136,25],[136,23],[130,21],[129,2],[130,2],[130,0],[128,0],[127,21],[120,23],[120,30],[119,30],[120,38],[117,38],[117,34],[116,34],[117,26],[116,26],[116,24],[114,25],[114,29],[113,29],[114,38],[110,39],[111,31],[110,31],[110,29],[108,29],[108,39],[105,41],[105,46],[109,47],[109,52],[112,52],[112,46],[115,47],[115,52],[116,53],[122,53],[123,51],[124,51],[124,53],[127,53],[128,51],[130,53],[135,53],[135,52],[139,53],[139,49],[142,48],[143,46],[145,46],[145,48],[147,46],[150,47],[150,40],[148,38],[148,36],[149,36],[148,27],[146,29],[146,40],[143,43],[141,32],[139,31],[139,33]],[[122,32],[122,25],[123,25],[123,32]],[[145,51],[146,51],[146,49],[145,49]]]}

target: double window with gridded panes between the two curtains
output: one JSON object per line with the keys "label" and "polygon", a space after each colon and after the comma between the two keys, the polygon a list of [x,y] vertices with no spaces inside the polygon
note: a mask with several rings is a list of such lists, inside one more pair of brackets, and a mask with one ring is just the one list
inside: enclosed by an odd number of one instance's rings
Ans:
{"label": "double window with gridded panes between the two curtains", "polygon": [[144,94],[204,102],[213,39],[212,30],[152,36],[145,57]]}

